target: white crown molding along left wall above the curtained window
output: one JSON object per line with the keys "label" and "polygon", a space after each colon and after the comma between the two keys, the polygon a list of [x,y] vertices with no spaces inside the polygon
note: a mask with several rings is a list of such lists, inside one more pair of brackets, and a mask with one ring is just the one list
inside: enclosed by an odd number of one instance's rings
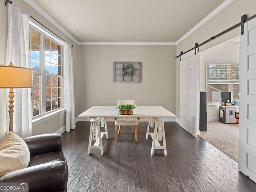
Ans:
{"label": "white crown molding along left wall above the curtained window", "polygon": [[76,44],[79,44],[78,40],[74,38],[66,29],[64,29],[60,24],[58,24],[55,20],[53,20],[44,10],[42,10],[40,7],[38,7],[34,2],[31,0],[24,0],[28,5],[30,5],[34,10],[36,10],[39,14],[41,14],[44,18],[46,18],[49,22],[54,24],[61,32],[63,32],[66,36],[68,36],[72,41],[74,41]]}

